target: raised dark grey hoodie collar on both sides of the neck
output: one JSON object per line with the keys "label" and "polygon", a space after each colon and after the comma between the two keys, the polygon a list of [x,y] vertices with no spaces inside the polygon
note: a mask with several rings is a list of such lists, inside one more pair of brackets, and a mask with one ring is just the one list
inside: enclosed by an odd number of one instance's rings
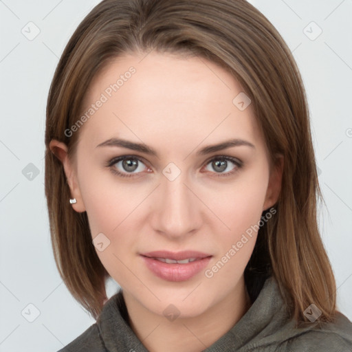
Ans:
{"label": "raised dark grey hoodie collar on both sides of the neck", "polygon": [[[105,347],[110,352],[148,352],[129,326],[122,290],[105,303],[97,325]],[[230,352],[243,348],[282,342],[294,329],[289,320],[278,284],[273,276],[266,279],[259,296],[250,309],[225,335],[214,342],[205,352]]]}

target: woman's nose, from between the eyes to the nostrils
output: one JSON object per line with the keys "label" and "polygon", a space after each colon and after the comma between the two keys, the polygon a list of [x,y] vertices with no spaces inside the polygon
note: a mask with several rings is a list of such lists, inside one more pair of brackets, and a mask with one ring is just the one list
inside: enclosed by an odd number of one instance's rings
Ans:
{"label": "woman's nose, from between the eyes to the nostrils", "polygon": [[170,239],[193,234],[201,225],[203,204],[184,174],[181,173],[173,181],[162,175],[153,198],[151,225],[155,231]]}

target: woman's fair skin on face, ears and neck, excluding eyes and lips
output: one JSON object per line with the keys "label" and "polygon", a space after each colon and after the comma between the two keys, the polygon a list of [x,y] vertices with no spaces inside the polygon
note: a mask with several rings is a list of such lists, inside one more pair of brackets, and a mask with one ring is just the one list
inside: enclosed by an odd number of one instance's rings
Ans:
{"label": "woman's fair skin on face, ears and neck, excluding eyes and lips", "polygon": [[[141,61],[142,60],[142,61]],[[206,269],[221,260],[263,210],[274,205],[281,187],[281,168],[270,170],[263,135],[252,104],[240,111],[232,100],[243,89],[228,72],[203,58],[171,54],[120,56],[92,81],[89,107],[129,67],[136,72],[80,127],[76,159],[52,140],[77,203],[87,211],[91,236],[110,244],[97,254],[124,290],[133,331],[149,351],[202,351],[225,334],[250,307],[243,272],[256,232],[211,278],[204,270],[188,281],[155,276],[139,256],[153,250],[198,250],[212,255]],[[96,147],[111,137],[144,143],[157,157],[116,146]],[[254,144],[197,155],[204,146],[240,138]],[[140,159],[137,177],[113,157]],[[223,171],[212,158],[228,156]],[[126,158],[128,159],[128,158]],[[163,170],[172,162],[180,174],[170,181]],[[222,175],[236,170],[233,175]],[[174,171],[173,171],[174,172]],[[220,175],[220,176],[219,176]],[[67,202],[69,199],[67,199]],[[275,216],[275,215],[273,215]],[[163,311],[173,304],[179,316]]]}

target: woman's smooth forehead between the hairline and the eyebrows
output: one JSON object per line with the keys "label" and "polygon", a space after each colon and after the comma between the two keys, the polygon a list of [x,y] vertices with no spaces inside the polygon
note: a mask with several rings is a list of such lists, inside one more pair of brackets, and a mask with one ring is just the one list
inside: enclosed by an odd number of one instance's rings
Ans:
{"label": "woman's smooth forehead between the hairline and the eyebrows", "polygon": [[239,94],[243,89],[234,77],[204,58],[155,52],[120,56],[89,85],[83,113],[98,101],[100,107],[80,133],[95,145],[119,136],[178,145],[233,137],[258,142],[252,106],[239,109]]}

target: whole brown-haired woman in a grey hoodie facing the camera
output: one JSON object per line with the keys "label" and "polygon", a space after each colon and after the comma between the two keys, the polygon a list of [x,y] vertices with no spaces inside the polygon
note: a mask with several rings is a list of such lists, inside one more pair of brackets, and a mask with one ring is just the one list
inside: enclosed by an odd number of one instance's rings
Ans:
{"label": "whole brown-haired woman in a grey hoodie facing the camera", "polygon": [[[243,0],[104,0],[47,102],[61,351],[351,351],[298,68]],[[105,281],[122,289],[107,298]]]}

